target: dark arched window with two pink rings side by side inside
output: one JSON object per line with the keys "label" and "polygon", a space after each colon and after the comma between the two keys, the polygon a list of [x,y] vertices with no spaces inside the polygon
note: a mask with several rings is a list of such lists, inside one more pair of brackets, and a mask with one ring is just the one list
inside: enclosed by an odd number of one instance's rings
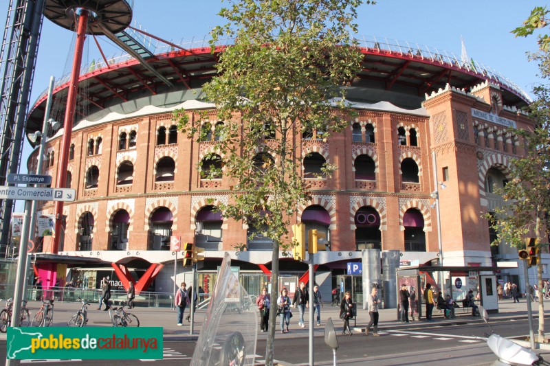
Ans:
{"label": "dark arched window with two pink rings side by side inside", "polygon": [[373,207],[361,207],[355,213],[355,250],[382,250],[380,215]]}

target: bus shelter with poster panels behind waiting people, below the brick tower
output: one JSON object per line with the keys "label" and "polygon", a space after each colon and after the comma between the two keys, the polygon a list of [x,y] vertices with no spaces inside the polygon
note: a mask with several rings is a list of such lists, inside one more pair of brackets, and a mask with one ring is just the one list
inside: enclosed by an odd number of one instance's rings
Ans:
{"label": "bus shelter with poster panels behind waiting people, below the brick tower", "polygon": [[[496,274],[500,268],[489,266],[419,266],[397,268],[395,272],[397,284],[397,299],[401,284],[405,284],[409,293],[414,296],[410,299],[410,308],[418,312],[422,317],[424,305],[424,289],[426,284],[431,284],[434,292],[443,290],[443,297],[450,297],[462,306],[462,301],[467,293],[472,290],[477,304],[481,304],[487,312],[498,312],[498,294],[496,286]],[[443,284],[439,284],[440,274]],[[414,292],[414,294],[413,294]],[[397,319],[399,319],[399,306],[397,307]]]}

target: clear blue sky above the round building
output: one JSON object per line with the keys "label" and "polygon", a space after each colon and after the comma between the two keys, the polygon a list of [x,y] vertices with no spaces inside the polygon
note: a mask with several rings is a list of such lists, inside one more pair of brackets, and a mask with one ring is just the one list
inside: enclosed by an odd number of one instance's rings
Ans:
{"label": "clear blue sky above the round building", "polygon": [[[135,0],[133,19],[142,29],[169,41],[181,38],[203,38],[214,25],[223,23],[217,16],[228,1],[216,0]],[[359,11],[358,38],[377,36],[437,47],[439,50],[461,54],[461,36],[470,58],[499,71],[531,92],[537,65],[528,62],[525,52],[536,49],[536,38],[514,38],[510,33],[527,18],[540,2],[523,0],[441,1],[441,0],[378,0],[376,5],[363,5]],[[5,24],[8,1],[2,1],[0,23]],[[74,33],[44,19],[31,101],[47,89],[50,76],[56,79],[69,73],[74,46]],[[99,37],[107,55],[120,50],[111,41]],[[93,38],[88,38],[83,62],[100,58]],[[532,95],[532,94],[531,94]],[[25,149],[28,154],[29,148]],[[22,161],[26,161],[24,156]],[[23,164],[25,165],[25,164]],[[21,167],[21,172],[26,167]]]}

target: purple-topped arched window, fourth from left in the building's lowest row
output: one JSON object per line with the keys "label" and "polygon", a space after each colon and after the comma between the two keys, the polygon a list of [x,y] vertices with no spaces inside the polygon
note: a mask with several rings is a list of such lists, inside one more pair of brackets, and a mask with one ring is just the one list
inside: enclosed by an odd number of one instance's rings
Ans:
{"label": "purple-topped arched window, fourth from left in the building's lowest row", "polygon": [[223,216],[212,205],[205,206],[195,216],[195,245],[206,250],[217,251],[222,244]]}

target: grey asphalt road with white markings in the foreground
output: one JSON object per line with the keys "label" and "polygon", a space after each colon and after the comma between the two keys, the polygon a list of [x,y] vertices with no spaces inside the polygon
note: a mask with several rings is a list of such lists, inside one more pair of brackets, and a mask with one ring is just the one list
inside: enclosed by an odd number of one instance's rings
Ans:
{"label": "grey asphalt road with white markings in the foreground", "polygon": [[[338,325],[338,324],[337,324]],[[527,321],[494,321],[494,330],[503,336],[525,336],[529,333]],[[309,361],[307,329],[299,337],[276,334],[275,359],[281,365],[307,365]],[[298,332],[298,331],[297,331]],[[446,326],[426,326],[414,330],[386,330],[380,337],[356,333],[353,336],[338,336],[338,365],[441,365],[459,363],[461,365],[490,365],[495,356],[483,339],[476,339],[489,332],[484,324],[463,324]],[[290,334],[288,334],[290,335]],[[161,365],[189,365],[195,341],[165,341],[164,359]],[[322,336],[315,338],[315,364],[331,365],[333,352],[325,345]],[[256,364],[262,365],[265,354],[265,339],[256,345]],[[0,357],[5,358],[5,341],[0,342]],[[1,359],[0,358],[0,359]],[[550,355],[546,356],[550,359]],[[35,360],[21,364],[75,363],[76,365],[97,366],[98,361],[86,360]],[[143,360],[142,362],[151,362]],[[101,366],[135,365],[140,361],[100,361]]]}

